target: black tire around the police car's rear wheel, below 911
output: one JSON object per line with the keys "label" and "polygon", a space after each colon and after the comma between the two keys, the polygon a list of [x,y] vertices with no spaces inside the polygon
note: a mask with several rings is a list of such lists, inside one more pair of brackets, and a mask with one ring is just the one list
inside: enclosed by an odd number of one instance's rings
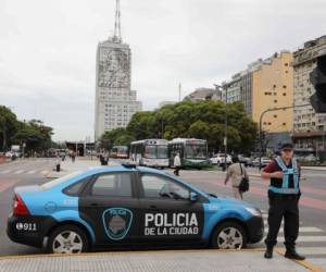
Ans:
{"label": "black tire around the police car's rear wheel, below 911", "polygon": [[48,239],[48,243],[47,243],[47,251],[49,254],[53,254],[53,246],[52,245],[53,245],[54,238],[60,233],[64,233],[64,232],[67,232],[67,231],[72,231],[72,232],[75,232],[76,234],[78,234],[79,237],[82,238],[82,243],[83,243],[82,252],[87,252],[88,251],[88,249],[89,249],[89,239],[88,239],[85,231],[83,231],[80,227],[78,227],[76,225],[67,224],[67,225],[58,226],[57,228],[54,228],[50,233],[49,239]]}

